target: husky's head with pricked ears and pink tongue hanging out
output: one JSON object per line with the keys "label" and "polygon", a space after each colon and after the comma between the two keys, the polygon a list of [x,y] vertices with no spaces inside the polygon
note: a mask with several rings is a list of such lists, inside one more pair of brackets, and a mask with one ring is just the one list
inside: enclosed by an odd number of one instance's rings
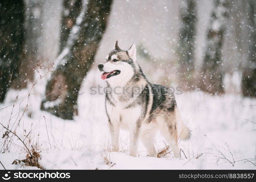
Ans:
{"label": "husky's head with pricked ears and pink tongue hanging out", "polygon": [[135,44],[128,51],[121,50],[117,41],[112,50],[106,57],[106,62],[98,65],[99,71],[103,72],[102,80],[108,82],[127,83],[138,68],[136,64],[136,47]]}

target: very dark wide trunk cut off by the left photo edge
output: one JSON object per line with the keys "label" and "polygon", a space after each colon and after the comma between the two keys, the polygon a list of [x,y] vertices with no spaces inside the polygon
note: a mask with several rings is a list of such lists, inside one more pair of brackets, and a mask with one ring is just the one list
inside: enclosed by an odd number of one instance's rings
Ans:
{"label": "very dark wide trunk cut off by the left photo edge", "polygon": [[23,0],[0,1],[0,102],[4,101],[12,81],[19,76],[24,45],[24,8]]}

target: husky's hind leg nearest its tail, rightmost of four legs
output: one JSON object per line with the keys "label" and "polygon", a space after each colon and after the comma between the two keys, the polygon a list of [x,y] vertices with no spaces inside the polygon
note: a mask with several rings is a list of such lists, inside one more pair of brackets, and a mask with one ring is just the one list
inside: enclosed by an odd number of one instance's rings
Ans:
{"label": "husky's hind leg nearest its tail, rightmost of four legs", "polygon": [[178,148],[178,134],[174,113],[164,112],[158,116],[157,123],[159,124],[161,134],[166,139],[167,145],[173,151],[174,157],[179,157],[180,149]]}

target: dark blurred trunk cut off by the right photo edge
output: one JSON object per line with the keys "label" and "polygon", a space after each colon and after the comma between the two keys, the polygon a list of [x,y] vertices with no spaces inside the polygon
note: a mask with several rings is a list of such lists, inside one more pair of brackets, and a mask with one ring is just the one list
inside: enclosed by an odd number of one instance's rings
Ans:
{"label": "dark blurred trunk cut off by the right photo edge", "polygon": [[242,93],[245,97],[256,97],[256,2],[248,1],[248,58],[242,74]]}

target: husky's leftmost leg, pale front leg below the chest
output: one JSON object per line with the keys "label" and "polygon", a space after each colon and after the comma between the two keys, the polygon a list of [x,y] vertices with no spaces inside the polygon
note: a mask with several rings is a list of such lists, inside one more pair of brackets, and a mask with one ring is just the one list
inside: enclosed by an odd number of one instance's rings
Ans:
{"label": "husky's leftmost leg, pale front leg below the chest", "polygon": [[119,148],[119,124],[109,121],[109,130],[111,135],[111,146],[113,152],[118,152]]}

